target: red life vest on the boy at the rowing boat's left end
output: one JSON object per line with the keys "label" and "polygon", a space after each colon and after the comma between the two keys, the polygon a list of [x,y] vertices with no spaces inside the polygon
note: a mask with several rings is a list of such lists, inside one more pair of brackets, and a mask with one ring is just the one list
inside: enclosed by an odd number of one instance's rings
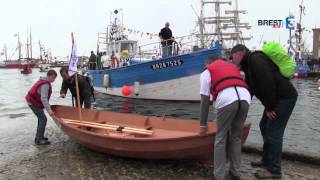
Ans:
{"label": "red life vest on the boy at the rowing boat's left end", "polygon": [[26,95],[26,100],[29,102],[32,106],[36,108],[43,108],[43,104],[41,102],[41,95],[38,93],[38,89],[43,84],[49,84],[49,92],[48,92],[48,101],[51,97],[52,93],[52,87],[49,81],[40,79],[38,82],[36,82],[31,89],[29,90],[28,94]]}

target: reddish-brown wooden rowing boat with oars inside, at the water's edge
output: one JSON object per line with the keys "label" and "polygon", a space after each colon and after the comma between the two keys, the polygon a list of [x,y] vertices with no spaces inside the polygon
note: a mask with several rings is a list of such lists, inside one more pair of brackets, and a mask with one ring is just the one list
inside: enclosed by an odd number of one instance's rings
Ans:
{"label": "reddish-brown wooden rowing boat with oars inside, at the water's edge", "polygon": [[[208,133],[200,136],[199,121],[148,117],[108,111],[52,106],[56,124],[71,138],[90,149],[130,158],[194,159],[213,157],[217,125],[209,122]],[[244,126],[242,142],[249,134]]]}

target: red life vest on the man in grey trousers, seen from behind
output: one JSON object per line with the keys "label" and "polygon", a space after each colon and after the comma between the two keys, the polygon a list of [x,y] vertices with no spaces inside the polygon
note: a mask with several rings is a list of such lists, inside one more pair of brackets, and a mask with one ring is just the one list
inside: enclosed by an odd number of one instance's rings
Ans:
{"label": "red life vest on the man in grey trousers, seen from behind", "polygon": [[207,66],[211,75],[211,94],[213,100],[217,99],[220,91],[228,87],[240,86],[246,89],[248,85],[241,77],[240,71],[231,63],[216,60]]}

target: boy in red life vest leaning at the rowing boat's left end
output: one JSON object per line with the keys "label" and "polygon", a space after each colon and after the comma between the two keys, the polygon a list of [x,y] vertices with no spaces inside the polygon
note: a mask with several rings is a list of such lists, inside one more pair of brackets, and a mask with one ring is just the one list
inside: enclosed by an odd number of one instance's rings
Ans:
{"label": "boy in red life vest leaning at the rowing boat's left end", "polygon": [[36,145],[48,145],[50,142],[48,138],[44,137],[44,131],[46,129],[47,117],[44,113],[44,108],[47,110],[50,116],[53,116],[53,111],[50,108],[49,100],[52,93],[51,83],[57,77],[55,70],[49,70],[47,77],[40,78],[29,90],[26,95],[26,101],[38,118],[38,127],[35,138]]}

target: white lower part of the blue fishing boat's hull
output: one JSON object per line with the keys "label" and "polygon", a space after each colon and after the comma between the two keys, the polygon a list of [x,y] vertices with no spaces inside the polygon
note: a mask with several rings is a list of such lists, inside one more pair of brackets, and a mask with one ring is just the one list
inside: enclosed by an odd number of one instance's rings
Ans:
{"label": "white lower part of the blue fishing boat's hull", "polygon": [[[200,74],[193,76],[140,85],[138,95],[131,94],[129,98],[155,99],[172,101],[200,101]],[[95,90],[108,95],[122,96],[122,88],[95,87]]]}

